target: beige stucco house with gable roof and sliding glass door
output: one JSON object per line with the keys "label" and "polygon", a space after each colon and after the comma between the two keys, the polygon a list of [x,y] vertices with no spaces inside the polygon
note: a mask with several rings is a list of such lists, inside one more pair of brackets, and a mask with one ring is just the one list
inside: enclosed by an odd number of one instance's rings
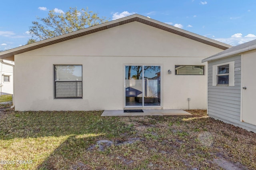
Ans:
{"label": "beige stucco house with gable roof and sliding glass door", "polygon": [[[201,61],[230,47],[134,14],[0,58],[15,62],[18,111],[188,109],[188,102],[190,109],[206,109],[207,64]],[[189,72],[176,71],[185,68]]]}

